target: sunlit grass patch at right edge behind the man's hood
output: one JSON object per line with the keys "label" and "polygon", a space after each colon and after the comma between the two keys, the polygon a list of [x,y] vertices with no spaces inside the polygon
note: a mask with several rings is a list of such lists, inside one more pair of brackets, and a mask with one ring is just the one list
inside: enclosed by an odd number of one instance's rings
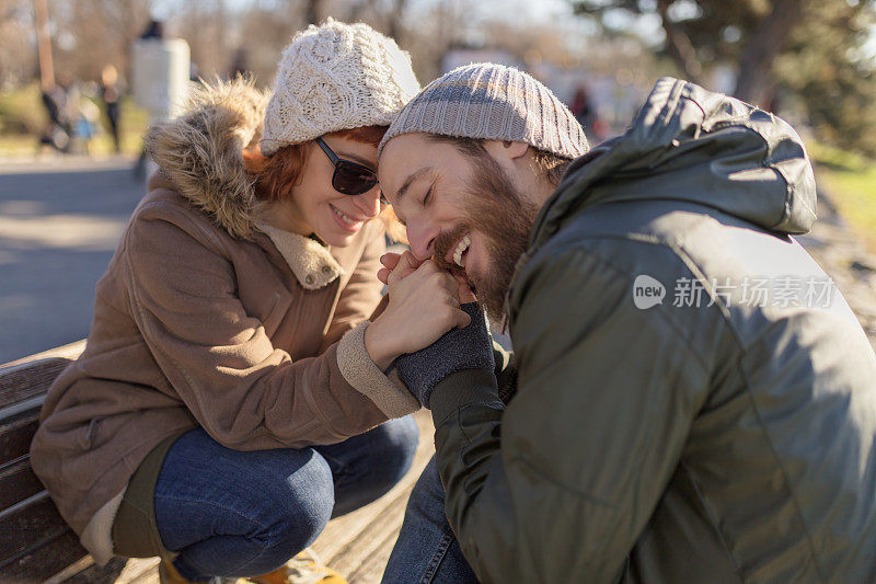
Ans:
{"label": "sunlit grass patch at right edge behind the man's hood", "polygon": [[876,253],[876,161],[818,142],[807,147],[819,184],[852,230]]}

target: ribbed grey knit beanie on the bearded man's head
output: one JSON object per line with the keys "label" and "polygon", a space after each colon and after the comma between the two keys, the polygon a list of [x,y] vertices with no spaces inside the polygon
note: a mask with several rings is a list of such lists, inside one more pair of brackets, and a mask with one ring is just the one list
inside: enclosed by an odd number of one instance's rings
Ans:
{"label": "ribbed grey knit beanie on the bearded man's head", "polygon": [[519,141],[565,158],[590,149],[581,125],[550,89],[493,62],[459,67],[429,83],[390,125],[378,154],[393,137],[412,133]]}

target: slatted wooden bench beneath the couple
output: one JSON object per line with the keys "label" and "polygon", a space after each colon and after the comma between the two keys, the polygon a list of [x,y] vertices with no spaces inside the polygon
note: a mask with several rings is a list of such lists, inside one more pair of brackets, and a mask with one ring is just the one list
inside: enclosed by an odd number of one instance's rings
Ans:
{"label": "slatted wooden bench beneath the couple", "polygon": [[[45,393],[84,347],[80,341],[0,366],[0,583],[158,582],[158,559],[94,564],[31,470],[28,449]],[[424,410],[415,417],[420,440],[411,472],[378,501],[330,522],[312,546],[350,583],[380,581],[407,496],[435,451],[431,416]]]}

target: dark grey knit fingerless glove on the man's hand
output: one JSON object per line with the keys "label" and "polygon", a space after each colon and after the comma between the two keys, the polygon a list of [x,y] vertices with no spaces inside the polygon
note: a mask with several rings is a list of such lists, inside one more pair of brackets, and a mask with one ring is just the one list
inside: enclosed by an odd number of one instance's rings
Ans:
{"label": "dark grey knit fingerless glove on the man's hand", "polygon": [[495,367],[484,311],[477,302],[460,308],[472,318],[471,324],[453,329],[426,348],[395,359],[399,377],[425,408],[429,406],[435,386],[450,374],[465,369],[492,371]]}

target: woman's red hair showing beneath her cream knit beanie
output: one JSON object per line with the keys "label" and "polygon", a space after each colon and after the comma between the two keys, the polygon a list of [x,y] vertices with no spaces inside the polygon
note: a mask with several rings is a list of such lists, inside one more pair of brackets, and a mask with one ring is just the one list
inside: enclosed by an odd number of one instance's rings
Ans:
{"label": "woman's red hair showing beneath her cream knit beanie", "polygon": [[[328,137],[347,138],[377,148],[389,126],[362,126],[326,134]],[[260,201],[275,202],[291,198],[295,186],[299,183],[301,172],[307,164],[312,142],[291,144],[277,150],[273,156],[263,156],[258,147],[243,152],[243,168],[255,180],[255,196]],[[404,228],[387,207],[380,214],[387,233],[404,241]]]}

